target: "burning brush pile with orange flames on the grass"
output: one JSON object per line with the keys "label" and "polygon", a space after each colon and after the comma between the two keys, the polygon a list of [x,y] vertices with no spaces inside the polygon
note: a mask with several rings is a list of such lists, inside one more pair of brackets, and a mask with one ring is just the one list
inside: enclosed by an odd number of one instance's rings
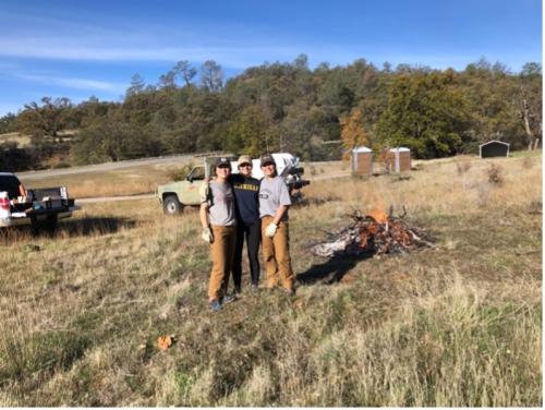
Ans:
{"label": "burning brush pile with orange flames on the grass", "polygon": [[356,212],[350,215],[353,222],[338,233],[329,233],[328,242],[318,243],[311,248],[316,256],[330,257],[336,255],[358,256],[364,253],[383,255],[386,253],[408,252],[416,248],[434,248],[424,239],[424,230],[411,227],[403,215],[395,217],[382,210],[374,210],[367,215]]}

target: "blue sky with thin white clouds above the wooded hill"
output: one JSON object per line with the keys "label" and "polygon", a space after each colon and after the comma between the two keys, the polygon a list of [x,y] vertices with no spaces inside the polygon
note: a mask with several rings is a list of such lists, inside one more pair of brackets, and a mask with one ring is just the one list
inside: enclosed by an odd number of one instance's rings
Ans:
{"label": "blue sky with thin white clouds above the wooded hill", "polygon": [[133,74],[156,84],[180,60],[231,76],[302,52],[311,68],[485,57],[520,71],[542,61],[542,2],[0,0],[0,116],[44,96],[120,100]]}

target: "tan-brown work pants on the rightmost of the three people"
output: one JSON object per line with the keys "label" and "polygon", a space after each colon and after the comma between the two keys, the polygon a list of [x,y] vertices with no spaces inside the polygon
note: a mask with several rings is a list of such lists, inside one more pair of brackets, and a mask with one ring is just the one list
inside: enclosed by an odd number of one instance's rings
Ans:
{"label": "tan-brown work pants on the rightmost of the three people", "polygon": [[272,238],[265,234],[265,229],[272,222],[271,216],[262,218],[262,245],[265,270],[267,272],[267,288],[278,286],[279,279],[284,289],[293,289],[293,270],[290,257],[290,233],[288,222],[278,224]]}

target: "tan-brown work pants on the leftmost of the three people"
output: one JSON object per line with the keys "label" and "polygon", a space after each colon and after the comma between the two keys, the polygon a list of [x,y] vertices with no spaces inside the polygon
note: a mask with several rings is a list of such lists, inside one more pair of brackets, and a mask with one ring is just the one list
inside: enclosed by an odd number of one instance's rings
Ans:
{"label": "tan-brown work pants on the leftmost of the three people", "polygon": [[229,275],[233,264],[237,227],[211,225],[214,242],[210,243],[211,272],[208,285],[208,298],[220,300],[227,292]]}

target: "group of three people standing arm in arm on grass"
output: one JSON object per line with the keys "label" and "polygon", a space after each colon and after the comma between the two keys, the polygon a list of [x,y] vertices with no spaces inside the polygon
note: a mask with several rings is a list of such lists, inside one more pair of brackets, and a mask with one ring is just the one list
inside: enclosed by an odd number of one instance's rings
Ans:
{"label": "group of three people standing arm in arm on grass", "polygon": [[[252,291],[258,291],[259,242],[267,273],[266,289],[278,285],[288,294],[294,293],[294,278],[289,251],[288,209],[290,193],[278,176],[270,154],[259,158],[264,178],[252,177],[252,159],[241,156],[240,173],[232,173],[228,158],[218,158],[216,178],[206,181],[201,196],[202,238],[210,244],[213,267],[208,301],[213,311],[232,301],[242,290],[242,249],[246,239]],[[227,292],[232,273],[234,294]]]}

